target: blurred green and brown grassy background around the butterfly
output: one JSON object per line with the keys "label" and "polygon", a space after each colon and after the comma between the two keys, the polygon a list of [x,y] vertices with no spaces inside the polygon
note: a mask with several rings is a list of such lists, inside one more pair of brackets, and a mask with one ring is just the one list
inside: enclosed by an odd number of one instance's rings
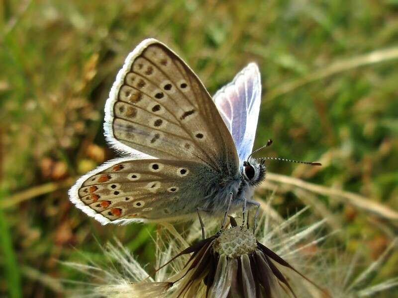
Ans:
{"label": "blurred green and brown grassy background around the butterfly", "polygon": [[[97,241],[113,236],[153,262],[156,225],[101,226],[67,197],[79,175],[115,156],[104,142],[104,102],[125,57],[147,37],[176,51],[210,94],[257,62],[255,147],[272,138],[268,156],[323,163],[268,169],[396,215],[397,0],[2,0],[0,34],[0,296],[63,297],[58,279],[81,277],[58,260],[79,261],[79,251],[100,260]],[[281,185],[273,207],[282,216],[305,204],[308,222],[330,216],[325,233],[340,228],[337,245],[361,251],[363,266],[397,234],[394,216]],[[395,253],[373,282],[397,276],[397,262]]]}

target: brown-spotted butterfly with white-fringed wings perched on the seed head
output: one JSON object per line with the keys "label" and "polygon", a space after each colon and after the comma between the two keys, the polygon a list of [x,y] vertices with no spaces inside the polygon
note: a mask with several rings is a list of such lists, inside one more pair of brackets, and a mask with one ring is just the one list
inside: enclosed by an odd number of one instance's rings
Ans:
{"label": "brown-spotted butterfly with white-fringed wings perched on the seed head", "polygon": [[252,197],[266,165],[251,152],[260,102],[255,63],[212,98],[166,45],[142,41],[105,104],[105,138],[124,157],[81,177],[70,200],[101,224],[174,221],[199,209],[219,214],[229,205],[258,205]]}

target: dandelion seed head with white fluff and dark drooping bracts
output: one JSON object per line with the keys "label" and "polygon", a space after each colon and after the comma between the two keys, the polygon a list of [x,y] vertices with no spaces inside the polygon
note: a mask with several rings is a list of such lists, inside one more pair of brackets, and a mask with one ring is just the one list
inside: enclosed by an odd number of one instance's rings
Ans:
{"label": "dandelion seed head with white fluff and dark drooping bracts", "polygon": [[[305,210],[285,221],[263,218],[256,235],[252,229],[237,226],[230,217],[231,227],[215,233],[216,223],[214,234],[209,238],[199,240],[198,229],[197,236],[190,241],[192,245],[176,237],[176,230],[159,229],[158,270],[154,277],[120,242],[108,244],[103,253],[111,266],[69,264],[98,281],[88,283],[77,297],[349,298],[369,297],[398,286],[397,278],[376,285],[369,283],[375,270],[384,263],[385,254],[354,279],[356,270],[349,259],[343,260],[340,253],[334,255],[321,249],[323,239],[330,234],[311,239],[324,220],[309,226],[298,224],[298,217]],[[304,244],[304,241],[309,242]],[[397,241],[387,249],[386,255],[396,247]],[[308,253],[306,248],[313,246],[317,249]],[[336,260],[336,264],[333,265],[332,260]],[[355,265],[357,261],[352,263]]]}

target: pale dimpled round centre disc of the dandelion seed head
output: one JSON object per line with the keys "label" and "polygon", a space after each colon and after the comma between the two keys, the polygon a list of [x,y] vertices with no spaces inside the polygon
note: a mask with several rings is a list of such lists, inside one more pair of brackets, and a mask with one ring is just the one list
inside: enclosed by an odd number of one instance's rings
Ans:
{"label": "pale dimpled round centre disc of the dandelion seed head", "polygon": [[225,254],[229,258],[238,258],[243,254],[251,254],[257,248],[257,240],[253,231],[246,227],[231,227],[221,231],[214,240],[214,252]]}

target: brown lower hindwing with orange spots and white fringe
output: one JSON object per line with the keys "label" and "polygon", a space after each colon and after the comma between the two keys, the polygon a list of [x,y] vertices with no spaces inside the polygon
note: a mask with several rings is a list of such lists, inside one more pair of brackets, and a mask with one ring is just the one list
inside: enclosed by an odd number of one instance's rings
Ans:
{"label": "brown lower hindwing with orange spots and white fringe", "polygon": [[173,218],[198,164],[163,159],[118,158],[83,176],[71,200],[102,224]]}

